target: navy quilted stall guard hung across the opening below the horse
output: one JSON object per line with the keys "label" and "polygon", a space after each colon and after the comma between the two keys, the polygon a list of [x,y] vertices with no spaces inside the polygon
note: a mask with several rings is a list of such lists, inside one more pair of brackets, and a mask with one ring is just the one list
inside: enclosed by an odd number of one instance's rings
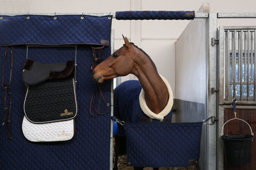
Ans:
{"label": "navy quilted stall guard hung across the opening below the horse", "polygon": [[127,163],[143,167],[191,166],[198,161],[202,122],[126,123]]}

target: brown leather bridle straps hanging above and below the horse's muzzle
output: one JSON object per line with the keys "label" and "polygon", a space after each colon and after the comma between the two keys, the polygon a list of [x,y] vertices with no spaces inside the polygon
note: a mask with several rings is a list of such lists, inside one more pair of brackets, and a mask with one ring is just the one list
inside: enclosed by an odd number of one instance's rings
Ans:
{"label": "brown leather bridle straps hanging above and below the horse's muzzle", "polygon": [[[104,48],[104,46],[100,46],[100,47],[93,47],[92,48],[92,52],[93,52],[93,62],[92,62],[92,67],[91,70],[93,71],[93,69],[97,66],[97,64],[99,64],[102,61],[102,49]],[[98,52],[98,57],[97,57],[97,53],[96,50],[99,50]],[[95,103],[94,103],[94,111],[95,114],[92,113],[92,104],[93,104],[93,97],[95,95]],[[99,96],[99,102],[97,103],[97,98]],[[104,103],[106,104],[106,110],[103,113],[100,113],[100,104],[102,103],[101,99],[103,99]],[[90,101],[90,107],[89,107],[89,112],[90,115],[95,116],[95,115],[105,115],[108,112],[108,108],[109,108],[109,103],[107,103],[106,99],[104,98],[101,88],[100,88],[100,84],[97,84],[97,86],[95,87],[95,89],[92,92],[92,98]]]}

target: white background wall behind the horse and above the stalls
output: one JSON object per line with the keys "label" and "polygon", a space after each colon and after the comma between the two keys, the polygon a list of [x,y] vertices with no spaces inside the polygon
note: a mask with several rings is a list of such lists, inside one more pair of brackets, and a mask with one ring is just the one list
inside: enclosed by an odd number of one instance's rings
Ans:
{"label": "white background wall behind the horse and above the stalls", "polygon": [[[125,10],[197,11],[210,3],[211,12],[255,11],[255,0],[0,0],[0,13],[83,13]],[[220,20],[219,25],[256,25],[255,20]],[[156,63],[159,73],[170,81],[175,97],[175,41],[188,20],[113,20],[115,49],[124,43],[122,34],[140,46]],[[128,77],[129,78],[129,77]],[[133,76],[131,76],[133,78]]]}

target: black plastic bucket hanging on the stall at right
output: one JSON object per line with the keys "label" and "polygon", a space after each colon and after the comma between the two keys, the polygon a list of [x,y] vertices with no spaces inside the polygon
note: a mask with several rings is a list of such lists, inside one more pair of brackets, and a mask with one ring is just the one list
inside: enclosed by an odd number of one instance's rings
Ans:
{"label": "black plastic bucket hanging on the stall at right", "polygon": [[226,134],[221,136],[221,139],[223,139],[225,160],[228,164],[242,166],[250,163],[252,135]]}

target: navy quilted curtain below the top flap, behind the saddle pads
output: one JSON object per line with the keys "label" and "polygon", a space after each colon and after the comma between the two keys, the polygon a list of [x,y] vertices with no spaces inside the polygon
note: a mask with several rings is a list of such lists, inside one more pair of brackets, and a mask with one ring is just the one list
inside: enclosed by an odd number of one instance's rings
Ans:
{"label": "navy quilted curtain below the top flap, behind the saddle pads", "polygon": [[[107,18],[108,19],[108,18]],[[22,25],[17,25],[17,29]],[[102,26],[103,27],[103,26]],[[95,28],[94,28],[95,29]],[[104,28],[104,38],[110,41],[110,28]],[[0,29],[1,30],[1,29]],[[97,31],[95,31],[97,32]],[[73,32],[74,34],[76,32]],[[70,34],[74,35],[72,32]],[[108,36],[109,35],[109,36]],[[0,77],[2,80],[5,47],[0,47]],[[5,69],[8,83],[10,74],[10,48]],[[110,55],[110,47],[102,50],[102,57]],[[75,47],[29,47],[28,58],[42,63],[65,62],[75,59]],[[106,115],[93,117],[89,113],[90,99],[97,84],[92,80],[92,50],[90,46],[77,46],[77,118],[76,134],[70,141],[32,143],[22,134],[23,101],[26,87],[22,83],[22,67],[26,60],[26,46],[14,46],[12,93],[12,140],[8,139],[8,124],[0,127],[0,169],[109,169],[110,108]],[[111,101],[111,81],[101,85],[108,103]],[[0,89],[0,120],[3,119],[4,90]],[[106,104],[100,105],[100,111]]]}

